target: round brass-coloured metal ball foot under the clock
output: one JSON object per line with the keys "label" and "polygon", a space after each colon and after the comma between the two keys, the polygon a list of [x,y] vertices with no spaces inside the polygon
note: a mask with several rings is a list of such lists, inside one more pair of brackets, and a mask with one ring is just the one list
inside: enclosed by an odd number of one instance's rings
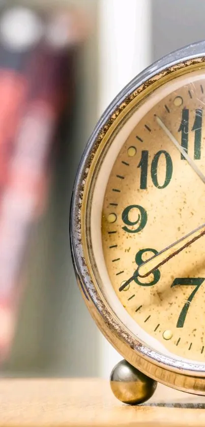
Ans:
{"label": "round brass-coloured metal ball foot under the clock", "polygon": [[121,360],[112,369],[110,387],[115,397],[121,402],[139,405],[152,397],[157,381],[142,374],[126,360]]}

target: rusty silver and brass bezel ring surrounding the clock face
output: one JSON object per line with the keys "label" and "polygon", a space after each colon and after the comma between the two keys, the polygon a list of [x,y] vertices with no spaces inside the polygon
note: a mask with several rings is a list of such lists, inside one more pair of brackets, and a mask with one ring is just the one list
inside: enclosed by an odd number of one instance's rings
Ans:
{"label": "rusty silver and brass bezel ring surrounding the clock face", "polygon": [[205,41],[157,61],[134,78],[109,105],[87,143],[78,168],[71,203],[70,239],[74,269],[85,303],[112,346],[153,379],[173,388],[205,395],[205,364],[183,363],[149,348],[144,352],[143,344],[114,316],[95,283],[85,232],[92,177],[109,136],[153,90],[170,79],[200,68],[205,68]]}

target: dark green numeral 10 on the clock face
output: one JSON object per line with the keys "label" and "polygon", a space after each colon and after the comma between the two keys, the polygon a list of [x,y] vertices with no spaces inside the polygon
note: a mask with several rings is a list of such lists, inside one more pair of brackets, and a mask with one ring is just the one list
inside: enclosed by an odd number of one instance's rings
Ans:
{"label": "dark green numeral 10 on the clock face", "polygon": [[[166,166],[165,166],[164,183],[160,185],[158,182],[157,170],[158,170],[158,162],[161,156],[165,158]],[[142,150],[141,159],[137,166],[141,169],[140,189],[142,190],[145,190],[148,188],[148,160],[149,160],[149,151]],[[167,151],[165,150],[158,151],[153,157],[153,160],[151,163],[151,178],[154,186],[160,189],[167,187],[167,185],[171,181],[172,172],[173,172],[173,164],[172,164],[170,154],[167,153]]]}

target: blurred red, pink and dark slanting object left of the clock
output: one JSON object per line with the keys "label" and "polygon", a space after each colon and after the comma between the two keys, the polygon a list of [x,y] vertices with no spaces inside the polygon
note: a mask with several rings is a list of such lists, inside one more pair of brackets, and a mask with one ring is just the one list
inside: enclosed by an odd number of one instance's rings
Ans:
{"label": "blurred red, pink and dark slanting object left of the clock", "polygon": [[0,361],[11,347],[21,275],[42,214],[58,122],[74,97],[86,35],[74,10],[0,9]]}

